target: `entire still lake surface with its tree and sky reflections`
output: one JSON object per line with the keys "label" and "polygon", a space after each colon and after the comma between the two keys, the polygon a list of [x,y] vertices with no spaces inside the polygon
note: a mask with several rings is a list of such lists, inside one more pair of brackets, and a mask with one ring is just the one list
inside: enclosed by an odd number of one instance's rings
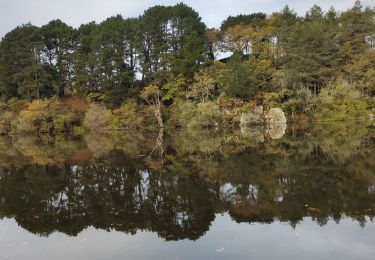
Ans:
{"label": "entire still lake surface with its tree and sky reflections", "polygon": [[374,259],[374,129],[1,137],[0,259]]}

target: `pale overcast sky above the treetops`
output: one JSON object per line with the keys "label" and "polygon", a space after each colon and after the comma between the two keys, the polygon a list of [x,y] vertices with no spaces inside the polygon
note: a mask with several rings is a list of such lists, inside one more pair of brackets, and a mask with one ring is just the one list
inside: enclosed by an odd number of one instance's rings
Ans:
{"label": "pale overcast sky above the treetops", "polygon": [[[0,0],[0,37],[14,27],[31,22],[41,26],[53,19],[61,19],[74,27],[90,21],[121,14],[134,17],[154,5],[173,5],[181,0]],[[289,5],[304,14],[313,4],[324,10],[334,6],[343,11],[354,5],[355,0],[185,0],[199,12],[209,27],[218,27],[229,15],[253,12],[272,13]],[[375,6],[374,0],[363,0],[363,5]]]}

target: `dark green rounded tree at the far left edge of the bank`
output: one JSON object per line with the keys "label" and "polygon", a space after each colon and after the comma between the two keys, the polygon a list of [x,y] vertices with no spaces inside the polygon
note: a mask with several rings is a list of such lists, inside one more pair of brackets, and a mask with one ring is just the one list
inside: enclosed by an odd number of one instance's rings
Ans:
{"label": "dark green rounded tree at the far left edge of the bank", "polygon": [[26,24],[9,32],[0,45],[0,86],[4,97],[32,100],[48,94],[50,73],[42,62],[40,29]]}

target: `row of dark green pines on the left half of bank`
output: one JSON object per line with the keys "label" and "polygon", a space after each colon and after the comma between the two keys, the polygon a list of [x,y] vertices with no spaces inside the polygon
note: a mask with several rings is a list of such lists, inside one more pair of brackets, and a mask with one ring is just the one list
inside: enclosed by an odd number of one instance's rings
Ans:
{"label": "row of dark green pines on the left half of bank", "polygon": [[140,82],[192,78],[207,61],[205,33],[198,13],[184,4],[78,29],[60,20],[25,24],[1,42],[1,95],[32,100],[102,92],[119,104]]}

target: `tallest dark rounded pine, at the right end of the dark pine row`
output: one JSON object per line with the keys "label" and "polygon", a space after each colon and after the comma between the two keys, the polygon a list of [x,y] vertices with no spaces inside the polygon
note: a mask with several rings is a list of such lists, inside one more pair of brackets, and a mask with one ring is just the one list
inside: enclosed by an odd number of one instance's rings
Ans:
{"label": "tallest dark rounded pine, at the right end of the dark pine row", "polygon": [[207,53],[206,27],[185,4],[155,6],[139,18],[138,55],[142,79],[163,82],[181,75],[192,78]]}

